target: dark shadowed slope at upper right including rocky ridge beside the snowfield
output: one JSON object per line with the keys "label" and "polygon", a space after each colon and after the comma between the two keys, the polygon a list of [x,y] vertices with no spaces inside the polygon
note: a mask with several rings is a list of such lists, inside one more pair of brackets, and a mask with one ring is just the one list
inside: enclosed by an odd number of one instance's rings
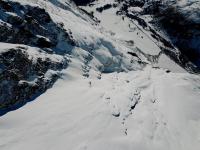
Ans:
{"label": "dark shadowed slope at upper right including rocky ridge beside the snowfield", "polygon": [[[200,22],[194,21],[183,14],[182,9],[169,1],[138,1],[116,0],[121,4],[117,15],[126,16],[136,20],[152,38],[163,43],[158,45],[163,52],[189,72],[200,72]],[[139,7],[141,12],[129,11],[130,7]],[[152,15],[150,23],[144,20],[143,15]],[[152,28],[149,24],[153,24]],[[157,31],[156,31],[157,30]],[[159,35],[158,30],[166,32],[169,40]],[[175,50],[177,47],[179,52]],[[193,64],[192,64],[192,63]]]}

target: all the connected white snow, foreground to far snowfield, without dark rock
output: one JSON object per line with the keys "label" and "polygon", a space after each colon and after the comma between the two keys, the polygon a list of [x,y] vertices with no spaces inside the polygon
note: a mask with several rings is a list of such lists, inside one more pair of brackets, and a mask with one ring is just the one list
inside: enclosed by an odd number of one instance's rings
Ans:
{"label": "all the connected white snow, foreground to far snowfield, without dark rock", "polygon": [[0,150],[199,150],[200,77],[160,55],[137,22],[122,21],[115,8],[95,12],[97,25],[68,0],[14,1],[45,8],[77,46],[60,39],[53,50],[70,59],[61,78],[0,117]]}

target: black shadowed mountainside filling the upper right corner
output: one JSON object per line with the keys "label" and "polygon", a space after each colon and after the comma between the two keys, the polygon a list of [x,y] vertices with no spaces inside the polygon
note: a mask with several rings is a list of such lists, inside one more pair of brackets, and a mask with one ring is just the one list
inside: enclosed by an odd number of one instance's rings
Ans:
{"label": "black shadowed mountainside filling the upper right corner", "polygon": [[166,31],[172,43],[180,50],[182,56],[180,59],[186,58],[200,68],[200,21],[196,21],[198,16],[195,17],[196,14],[191,15],[190,12],[191,8],[193,13],[198,12],[199,8],[195,6],[189,8],[190,5],[199,2],[191,2],[186,6],[179,6],[177,3],[176,1],[151,2],[145,6],[144,14],[154,16],[153,25]]}

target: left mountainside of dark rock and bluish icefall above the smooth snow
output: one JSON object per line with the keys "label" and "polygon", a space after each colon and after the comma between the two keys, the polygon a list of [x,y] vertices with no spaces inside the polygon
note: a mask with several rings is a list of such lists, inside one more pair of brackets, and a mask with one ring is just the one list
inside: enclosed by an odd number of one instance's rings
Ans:
{"label": "left mountainside of dark rock and bluish icefall above the smooth snow", "polygon": [[[49,69],[59,71],[66,68],[67,65],[65,64],[68,64],[70,59],[76,59],[80,62],[79,68],[86,77],[89,76],[90,70],[95,70],[96,76],[99,76],[101,72],[141,69],[146,64],[145,60],[141,62],[137,57],[132,58],[127,54],[129,51],[135,51],[134,47],[129,48],[127,44],[118,43],[117,40],[101,31],[101,27],[96,25],[96,20],[79,10],[74,3],[68,1],[19,0],[2,1],[0,4],[2,8],[1,30],[3,33],[0,41],[16,44],[16,46],[10,46],[8,53],[11,54],[2,53],[0,60],[3,64],[1,66],[3,75],[1,85],[5,87],[2,90],[0,106],[3,112],[4,109],[5,111],[13,109],[13,105],[19,105],[19,103],[21,105],[29,99],[34,99],[35,96],[50,87],[45,85],[41,89],[39,85],[35,90],[32,84],[28,84],[28,87],[24,85],[23,90],[19,92],[21,81],[27,81],[27,84],[31,78],[31,80],[42,80],[43,82],[46,80],[45,73]],[[31,47],[31,53],[37,52],[41,55],[45,53],[48,56],[44,62],[39,57],[34,58],[33,56],[32,58],[28,55],[22,57],[20,56],[21,53],[18,53],[18,51],[21,51],[18,50],[19,44]],[[21,47],[24,46],[21,45]],[[16,54],[12,52],[13,47],[17,49]],[[4,51],[4,47],[1,47],[1,51]],[[26,52],[26,50],[23,51]],[[54,57],[54,55],[63,57],[62,59],[66,61],[61,61],[57,66],[51,66],[51,57]],[[11,59],[13,57],[15,59]],[[18,59],[22,63],[19,63]],[[27,63],[27,66],[30,66],[29,68],[22,67],[24,62],[32,62],[32,59],[36,60],[36,65]],[[134,63],[131,63],[132,61]],[[8,72],[13,72],[14,75]],[[31,94],[29,92],[25,96],[21,94],[27,91],[30,91]],[[5,95],[9,96],[6,97]]]}

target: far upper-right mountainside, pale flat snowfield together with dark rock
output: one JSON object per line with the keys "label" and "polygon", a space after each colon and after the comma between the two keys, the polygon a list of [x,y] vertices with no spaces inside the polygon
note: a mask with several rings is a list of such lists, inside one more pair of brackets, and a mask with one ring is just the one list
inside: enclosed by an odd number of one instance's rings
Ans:
{"label": "far upper-right mountainside, pale flat snowfield together with dark rock", "polygon": [[198,5],[195,0],[104,0],[82,8],[100,18],[101,24],[117,38],[134,39],[143,52],[155,55],[154,52],[161,51],[189,72],[198,73]]}

